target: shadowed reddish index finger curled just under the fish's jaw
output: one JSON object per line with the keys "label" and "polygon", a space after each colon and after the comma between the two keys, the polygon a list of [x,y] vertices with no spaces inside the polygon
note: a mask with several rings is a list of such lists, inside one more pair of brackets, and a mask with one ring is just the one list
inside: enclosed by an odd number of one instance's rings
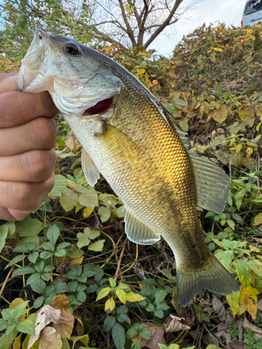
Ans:
{"label": "shadowed reddish index finger curled just under the fish's jaw", "polygon": [[40,94],[8,91],[0,94],[0,128],[27,123],[36,117],[55,117],[59,110],[47,91]]}

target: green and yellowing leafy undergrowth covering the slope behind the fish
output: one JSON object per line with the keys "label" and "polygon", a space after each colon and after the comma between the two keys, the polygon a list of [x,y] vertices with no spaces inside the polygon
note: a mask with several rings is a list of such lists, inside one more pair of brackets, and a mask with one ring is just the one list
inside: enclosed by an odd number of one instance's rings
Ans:
{"label": "green and yellowing leafy undergrowth covering the slope behind the fish", "polygon": [[[171,59],[143,48],[96,47],[173,112],[191,151],[230,175],[223,214],[198,211],[205,242],[240,292],[203,291],[182,309],[172,251],[163,241],[137,246],[126,239],[121,200],[102,177],[95,188],[87,185],[81,147],[58,116],[54,188],[34,214],[0,227],[0,348],[261,348],[261,36],[261,24],[203,26]],[[19,69],[28,38],[21,51],[10,45],[1,71]],[[38,337],[35,322],[42,324]]]}

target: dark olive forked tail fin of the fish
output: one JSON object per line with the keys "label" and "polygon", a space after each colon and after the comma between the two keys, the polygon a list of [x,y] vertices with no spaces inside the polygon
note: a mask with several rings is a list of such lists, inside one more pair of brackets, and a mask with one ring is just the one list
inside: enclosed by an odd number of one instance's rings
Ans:
{"label": "dark olive forked tail fin of the fish", "polygon": [[205,288],[219,295],[230,295],[238,292],[240,287],[233,276],[221,265],[219,260],[210,254],[202,267],[192,269],[177,265],[177,297],[182,306],[187,306],[199,292]]}

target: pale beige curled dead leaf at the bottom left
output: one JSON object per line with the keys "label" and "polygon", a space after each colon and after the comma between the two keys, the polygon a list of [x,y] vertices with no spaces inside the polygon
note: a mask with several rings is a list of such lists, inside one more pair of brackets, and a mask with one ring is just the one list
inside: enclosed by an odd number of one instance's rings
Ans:
{"label": "pale beige curled dead leaf at the bottom left", "polygon": [[33,346],[41,334],[41,330],[45,328],[50,322],[57,323],[60,318],[60,310],[54,309],[50,305],[45,305],[38,311],[35,325],[35,333],[30,337],[27,349]]}

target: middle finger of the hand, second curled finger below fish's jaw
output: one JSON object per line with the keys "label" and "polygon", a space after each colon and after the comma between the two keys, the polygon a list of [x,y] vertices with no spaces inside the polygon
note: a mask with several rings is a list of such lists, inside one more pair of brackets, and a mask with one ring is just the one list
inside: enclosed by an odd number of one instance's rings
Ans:
{"label": "middle finger of the hand, second curled finger below fish's jaw", "polygon": [[56,135],[55,121],[46,117],[38,117],[21,126],[2,128],[0,156],[22,154],[33,149],[52,149],[57,141]]}

